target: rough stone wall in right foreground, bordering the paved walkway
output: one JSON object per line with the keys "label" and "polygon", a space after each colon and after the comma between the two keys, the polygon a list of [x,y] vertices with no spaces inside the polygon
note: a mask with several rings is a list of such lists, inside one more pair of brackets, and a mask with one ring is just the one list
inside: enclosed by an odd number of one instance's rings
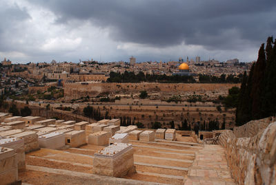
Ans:
{"label": "rough stone wall in right foreground, bordering the paved walkway", "polygon": [[[218,143],[226,149],[226,157],[232,175],[237,184],[276,184],[276,122],[275,118],[265,118],[248,122],[247,126],[235,128],[233,131],[224,131],[219,136]],[[270,122],[270,124],[268,124]],[[253,132],[250,126],[259,124],[259,132]],[[248,138],[239,138],[242,131]]]}

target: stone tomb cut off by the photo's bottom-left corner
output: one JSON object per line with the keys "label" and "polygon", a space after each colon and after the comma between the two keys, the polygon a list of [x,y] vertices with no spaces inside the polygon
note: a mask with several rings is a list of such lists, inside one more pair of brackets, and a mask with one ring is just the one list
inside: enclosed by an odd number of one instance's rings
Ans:
{"label": "stone tomb cut off by the photo's bottom-left corner", "polygon": [[16,153],[14,149],[0,147],[0,182],[12,184],[18,180]]}

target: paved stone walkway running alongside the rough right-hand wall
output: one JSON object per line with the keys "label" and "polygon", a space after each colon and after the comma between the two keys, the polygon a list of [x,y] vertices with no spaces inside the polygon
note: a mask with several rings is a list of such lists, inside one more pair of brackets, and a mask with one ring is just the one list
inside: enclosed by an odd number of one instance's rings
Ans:
{"label": "paved stone walkway running alongside the rough right-hand wall", "polygon": [[185,185],[235,185],[228,167],[224,148],[206,144],[190,166]]}

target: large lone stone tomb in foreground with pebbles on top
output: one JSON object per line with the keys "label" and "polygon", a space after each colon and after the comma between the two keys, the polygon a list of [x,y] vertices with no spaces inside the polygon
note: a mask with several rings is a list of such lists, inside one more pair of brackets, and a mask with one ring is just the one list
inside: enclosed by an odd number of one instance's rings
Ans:
{"label": "large lone stone tomb in foreground with pebbles on top", "polygon": [[132,144],[115,143],[95,153],[93,171],[112,177],[124,177],[135,172]]}

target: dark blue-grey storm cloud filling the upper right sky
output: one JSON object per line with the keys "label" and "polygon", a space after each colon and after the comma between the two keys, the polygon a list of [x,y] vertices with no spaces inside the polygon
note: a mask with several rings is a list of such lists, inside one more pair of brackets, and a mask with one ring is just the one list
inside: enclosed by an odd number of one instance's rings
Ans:
{"label": "dark blue-grey storm cloud filling the upper right sky", "polygon": [[[115,41],[155,47],[203,45],[209,50],[239,50],[260,45],[275,34],[276,1],[257,0],[30,0],[57,15],[110,28]],[[243,46],[241,46],[243,47]]]}

